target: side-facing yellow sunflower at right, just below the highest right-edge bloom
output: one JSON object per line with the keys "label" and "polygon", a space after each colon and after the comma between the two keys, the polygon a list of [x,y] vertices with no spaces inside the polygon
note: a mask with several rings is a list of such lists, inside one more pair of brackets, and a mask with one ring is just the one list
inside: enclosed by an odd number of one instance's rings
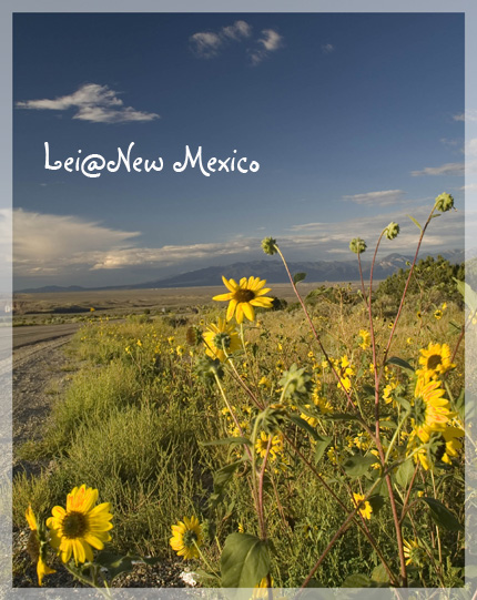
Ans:
{"label": "side-facing yellow sunflower at right, just below the highest right-edge bloom", "polygon": [[454,416],[449,410],[449,401],[443,398],[444,394],[440,382],[426,384],[420,378],[416,382],[410,423],[413,434],[424,444],[429,441],[432,431],[443,431]]}

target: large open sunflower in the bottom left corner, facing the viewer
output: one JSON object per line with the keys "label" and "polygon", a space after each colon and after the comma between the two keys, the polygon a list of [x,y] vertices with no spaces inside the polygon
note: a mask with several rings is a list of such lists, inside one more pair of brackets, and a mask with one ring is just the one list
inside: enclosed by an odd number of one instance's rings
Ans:
{"label": "large open sunflower in the bottom left corner, facing the viewer", "polygon": [[[112,529],[110,520],[110,502],[94,506],[98,500],[98,490],[87,488],[83,484],[75,487],[67,497],[67,509],[55,506],[47,520],[50,528],[51,546],[61,555],[61,560],[68,562],[71,555],[74,562],[91,562],[93,551],[104,548],[104,542],[111,540],[108,533]],[[93,508],[94,507],[94,508]]]}

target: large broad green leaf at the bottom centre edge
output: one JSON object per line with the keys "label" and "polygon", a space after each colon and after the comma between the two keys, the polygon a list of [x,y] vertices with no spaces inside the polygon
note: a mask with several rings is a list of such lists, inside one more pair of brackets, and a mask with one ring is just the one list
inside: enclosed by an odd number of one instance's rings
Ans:
{"label": "large broad green leaf at the bottom centre edge", "polygon": [[270,573],[268,548],[248,533],[231,533],[221,556],[223,588],[253,588]]}

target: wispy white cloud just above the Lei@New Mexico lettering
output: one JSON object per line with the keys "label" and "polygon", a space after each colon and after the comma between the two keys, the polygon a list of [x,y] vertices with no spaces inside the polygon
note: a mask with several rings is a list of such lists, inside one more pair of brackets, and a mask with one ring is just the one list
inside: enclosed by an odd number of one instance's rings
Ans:
{"label": "wispy white cloud just above the Lei@New Mexico lettering", "polygon": [[75,109],[73,119],[91,123],[131,123],[159,119],[159,114],[124,106],[118,93],[108,85],[85,83],[75,92],[53,100],[27,100],[17,102],[18,109],[67,111]]}

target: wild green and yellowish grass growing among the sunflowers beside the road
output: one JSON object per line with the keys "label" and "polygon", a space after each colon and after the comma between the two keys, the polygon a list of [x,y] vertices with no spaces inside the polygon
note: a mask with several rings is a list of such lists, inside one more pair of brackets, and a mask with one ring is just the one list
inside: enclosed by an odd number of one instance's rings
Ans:
{"label": "wild green and yellowish grass growing among the sunflowers beside the road", "polygon": [[[445,296],[438,299],[442,303]],[[366,328],[366,313],[356,293],[338,288],[331,295],[311,299],[308,306],[331,355],[336,360],[347,355],[359,388],[372,384],[369,350],[362,350],[358,345],[357,333]],[[448,303],[440,319],[434,317],[433,306],[418,317],[420,306],[419,298],[409,298],[392,352],[414,367],[418,365],[419,348],[429,342],[454,346],[463,321],[461,308],[456,303]],[[187,344],[187,329],[192,325],[203,328],[204,323],[215,321],[219,315],[222,315],[220,307],[213,307],[187,316],[185,322],[155,315],[140,315],[124,323],[95,321],[77,334],[69,349],[68,370],[79,370],[72,375],[64,396],[55,403],[42,439],[20,449],[20,455],[29,460],[49,458],[52,467],[40,477],[20,475],[16,478],[13,521],[17,528],[24,529],[24,510],[29,504],[45,518],[53,506],[64,506],[72,487],[84,482],[100,490],[100,501],[112,504],[111,548],[119,552],[172,558],[171,525],[184,516],[196,515],[204,523],[204,552],[219,570],[219,546],[223,546],[227,535],[240,527],[256,535],[258,521],[250,500],[251,478],[245,464],[231,477],[222,501],[216,506],[210,502],[214,474],[238,455],[237,447],[203,445],[233,435],[234,424],[224,410],[217,388],[207,385],[195,372],[195,358],[204,352],[202,346]],[[390,322],[385,312],[376,319],[379,344],[387,338]],[[321,395],[336,410],[345,409],[344,397],[329,369],[323,366],[324,357],[300,311],[288,306],[284,311],[261,312],[257,322],[247,327],[246,339],[246,354],[237,357],[236,368],[261,401],[277,400],[278,380],[296,363],[306,366],[313,377],[319,379]],[[458,367],[449,377],[456,396],[463,386],[461,348],[457,363]],[[263,376],[270,386],[260,383]],[[392,377],[404,382],[397,368],[389,368],[387,376],[389,382]],[[223,385],[250,435],[256,410],[231,375],[225,376]],[[363,399],[365,411],[371,406],[367,403]],[[333,430],[333,447],[346,456],[352,454],[353,439],[361,433],[356,424],[343,423],[332,428],[325,420],[318,429],[322,434]],[[313,447],[306,434],[292,427],[288,435],[313,460]],[[353,451],[357,451],[356,447]],[[351,510],[349,484],[327,452],[316,468]],[[438,497],[446,506],[453,506],[459,519],[463,516],[461,468],[461,460],[455,461],[438,490]],[[357,485],[366,487],[368,482],[364,477]],[[418,484],[416,494],[419,489],[430,494],[428,474],[424,472]],[[343,508],[309,477],[286,447],[283,456],[267,469],[264,512],[274,547],[273,579],[276,586],[283,587],[302,583],[346,517]],[[389,522],[389,507],[385,504],[380,511],[374,511],[369,529],[397,569]],[[417,533],[427,539],[432,527],[429,511],[423,504],[416,507],[414,520],[405,522],[405,538]],[[443,563],[444,582],[457,584],[461,573],[453,569],[461,567],[461,537],[443,533],[439,543],[445,556],[450,557],[450,567]],[[366,538],[356,527],[351,527],[323,562],[316,582],[321,587],[339,587],[348,574],[371,576],[378,565],[378,557]],[[413,569],[410,571],[413,573]],[[423,567],[413,577],[417,581],[425,579],[429,584],[437,581],[433,565]]]}

